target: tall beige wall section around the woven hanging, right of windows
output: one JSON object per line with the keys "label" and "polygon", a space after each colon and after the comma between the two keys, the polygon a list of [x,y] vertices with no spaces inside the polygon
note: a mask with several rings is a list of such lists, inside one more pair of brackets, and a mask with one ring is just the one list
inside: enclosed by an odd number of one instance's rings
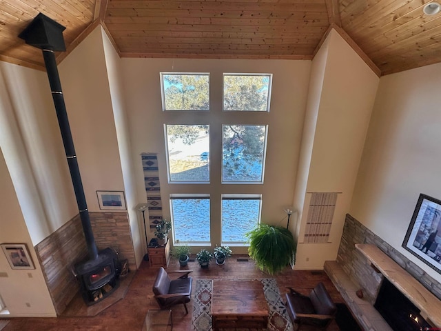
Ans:
{"label": "tall beige wall section around the woven hanging, right of windows", "polygon": [[[379,81],[336,30],[331,30],[327,39],[325,70],[315,72],[323,75],[323,82],[306,192],[296,192],[305,194],[305,203],[300,210],[296,269],[322,269],[325,261],[337,257]],[[319,61],[324,60],[320,58]],[[313,80],[319,83],[320,77]],[[315,89],[311,92],[317,94]],[[314,100],[317,102],[317,97]],[[316,112],[316,105],[308,110]],[[305,139],[305,143],[310,142],[310,137]],[[311,199],[309,192],[339,192],[328,243],[302,241]]]}

